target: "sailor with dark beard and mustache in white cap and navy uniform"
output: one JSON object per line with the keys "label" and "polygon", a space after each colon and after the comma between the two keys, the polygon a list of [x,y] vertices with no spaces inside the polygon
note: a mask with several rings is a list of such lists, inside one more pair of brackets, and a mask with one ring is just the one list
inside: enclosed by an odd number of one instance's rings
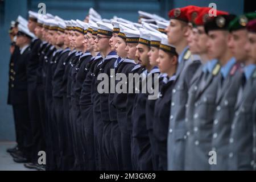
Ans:
{"label": "sailor with dark beard and mustache in white cap and navy uniform", "polygon": [[135,158],[138,160],[137,170],[152,170],[151,146],[146,127],[146,113],[144,111],[148,91],[146,93],[142,93],[142,89],[143,86],[146,87],[147,76],[151,74],[154,75],[154,73],[159,73],[159,69],[150,65],[148,60],[147,53],[150,51],[149,32],[144,28],[141,28],[140,34],[141,36],[139,38],[136,56],[141,62],[141,65],[146,69],[141,74],[142,80],[139,82],[139,84],[135,84],[135,93],[137,94],[135,95],[133,111],[131,114],[131,119],[133,121],[132,137],[134,138],[132,150],[133,155],[135,155]]}

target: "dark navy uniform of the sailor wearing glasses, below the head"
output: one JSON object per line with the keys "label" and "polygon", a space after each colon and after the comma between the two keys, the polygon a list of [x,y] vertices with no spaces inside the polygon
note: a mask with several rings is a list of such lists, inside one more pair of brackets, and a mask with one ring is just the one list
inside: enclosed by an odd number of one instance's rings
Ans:
{"label": "dark navy uniform of the sailor wearing glasses, below the head", "polygon": [[[113,54],[110,52],[109,55]],[[108,56],[107,56],[108,57]],[[113,88],[115,85],[113,73],[110,69],[114,70],[114,63],[117,60],[117,55],[112,55],[107,61],[104,61],[101,67],[101,73],[105,73],[109,78],[109,86]],[[113,83],[113,84],[112,84]],[[117,123],[117,111],[112,105],[114,93],[100,94],[100,109],[103,121],[103,148],[107,157],[106,167],[108,170],[122,170],[122,156],[121,156],[121,134]]]}

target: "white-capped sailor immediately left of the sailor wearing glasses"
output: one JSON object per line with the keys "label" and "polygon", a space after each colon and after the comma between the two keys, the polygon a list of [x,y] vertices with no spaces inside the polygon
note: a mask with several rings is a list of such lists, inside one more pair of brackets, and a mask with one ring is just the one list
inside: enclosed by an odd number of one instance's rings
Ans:
{"label": "white-capped sailor immediately left of the sailor wearing glasses", "polygon": [[[81,85],[81,94],[80,94],[80,112],[82,120],[82,129],[84,133],[84,146],[85,154],[84,160],[86,161],[86,170],[95,170],[96,164],[98,165],[98,154],[96,153],[94,146],[94,131],[93,131],[93,104],[91,97],[91,85],[92,85],[92,72],[90,69],[94,67],[94,64],[97,63],[97,59],[101,57],[96,51],[94,51],[94,39],[97,36],[98,26],[96,23],[89,21],[88,30],[86,34],[86,47],[87,50],[92,55],[89,63],[85,65],[85,68],[81,71],[84,72],[84,81]],[[96,61],[94,61],[96,60]],[[90,146],[90,147],[87,147]],[[99,167],[99,166],[98,166]]]}

